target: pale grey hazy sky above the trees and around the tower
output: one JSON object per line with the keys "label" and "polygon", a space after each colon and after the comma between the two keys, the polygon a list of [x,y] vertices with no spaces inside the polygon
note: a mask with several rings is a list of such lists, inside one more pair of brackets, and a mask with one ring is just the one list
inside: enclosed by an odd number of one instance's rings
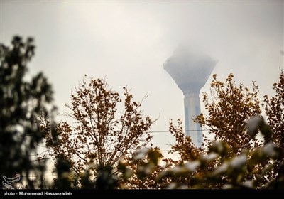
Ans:
{"label": "pale grey hazy sky above the trees and around the tower", "polygon": [[[127,86],[136,100],[147,94],[144,114],[160,116],[151,130],[168,131],[170,119],[184,119],[183,95],[163,63],[182,41],[218,60],[212,74],[219,80],[233,72],[248,87],[256,80],[260,97],[273,94],[284,63],[283,2],[1,1],[1,43],[16,34],[35,38],[30,72],[48,76],[60,112],[84,74],[106,76],[120,93]],[[160,149],[174,141],[154,135]]]}

